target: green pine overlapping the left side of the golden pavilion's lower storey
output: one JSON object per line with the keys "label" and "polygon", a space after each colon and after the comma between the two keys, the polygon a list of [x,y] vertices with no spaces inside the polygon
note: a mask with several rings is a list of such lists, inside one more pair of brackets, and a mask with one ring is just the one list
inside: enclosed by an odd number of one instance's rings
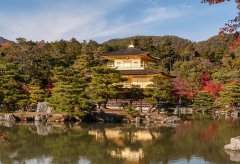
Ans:
{"label": "green pine overlapping the left side of the golden pavilion's lower storey", "polygon": [[106,108],[108,100],[116,96],[122,87],[121,82],[126,80],[121,77],[118,70],[103,66],[92,68],[91,79],[87,90],[92,100],[98,104],[98,108],[101,105]]}

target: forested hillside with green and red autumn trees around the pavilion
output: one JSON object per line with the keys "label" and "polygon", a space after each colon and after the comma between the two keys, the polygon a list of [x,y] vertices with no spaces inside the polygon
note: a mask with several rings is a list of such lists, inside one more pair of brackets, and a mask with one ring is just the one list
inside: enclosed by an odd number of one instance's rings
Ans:
{"label": "forested hillside with green and red autumn trees around the pavilion", "polygon": [[[120,88],[113,84],[124,81],[118,71],[104,67],[106,61],[101,55],[131,43],[161,59],[149,64],[148,69],[177,76],[171,81],[172,102],[184,100],[198,108],[201,101],[214,102],[215,107],[236,106],[240,103],[240,51],[229,50],[232,41],[228,35],[202,42],[176,36],[134,36],[101,44],[74,38],[4,42],[0,47],[1,108],[28,110],[44,100],[70,113],[93,109],[93,104],[101,106],[116,97]],[[104,81],[106,77],[111,80]],[[102,83],[108,86],[106,90]]]}

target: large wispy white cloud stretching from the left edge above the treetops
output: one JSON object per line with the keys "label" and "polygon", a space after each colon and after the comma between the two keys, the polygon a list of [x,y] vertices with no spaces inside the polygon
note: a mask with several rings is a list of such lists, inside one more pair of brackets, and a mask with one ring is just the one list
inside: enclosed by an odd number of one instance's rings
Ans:
{"label": "large wispy white cloud stretching from the left edge above the treetops", "polygon": [[[143,33],[147,27],[161,21],[182,16],[182,12],[165,7],[149,8],[140,13],[141,18],[126,20],[121,13],[109,19],[115,10],[128,0],[104,0],[93,5],[43,9],[42,12],[8,16],[0,11],[0,27],[8,39],[25,37],[31,40],[54,41],[76,37],[79,40],[114,38]],[[59,7],[59,6],[58,6]],[[116,14],[116,13],[115,13]]]}

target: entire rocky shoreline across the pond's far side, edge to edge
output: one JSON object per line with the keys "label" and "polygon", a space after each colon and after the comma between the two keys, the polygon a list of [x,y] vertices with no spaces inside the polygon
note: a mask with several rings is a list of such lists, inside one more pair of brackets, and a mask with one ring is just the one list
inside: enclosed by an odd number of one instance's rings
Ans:
{"label": "entire rocky shoreline across the pond's far side, edge to edge", "polygon": [[224,116],[238,118],[239,112],[237,110],[222,111],[222,110],[210,110],[203,113],[202,110],[193,110],[192,108],[175,108],[171,112],[167,112],[164,109],[149,113],[148,111],[139,112],[129,110],[117,110],[117,109],[101,109],[97,111],[85,112],[76,116],[70,115],[67,112],[59,112],[48,106],[47,102],[40,102],[36,105],[36,110],[32,112],[28,111],[15,111],[12,113],[0,113],[0,122],[7,122],[5,125],[13,126],[15,122],[95,122],[95,123],[123,123],[123,124],[145,124],[145,125],[158,125],[158,126],[170,126],[176,127],[180,123],[184,123],[181,120],[182,115],[198,115],[207,114],[214,117]]}

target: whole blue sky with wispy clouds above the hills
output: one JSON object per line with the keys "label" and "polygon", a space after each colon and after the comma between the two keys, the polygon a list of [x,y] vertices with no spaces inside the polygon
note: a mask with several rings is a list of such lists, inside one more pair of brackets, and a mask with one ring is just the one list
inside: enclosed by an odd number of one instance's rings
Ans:
{"label": "whole blue sky with wispy clouds above the hills", "polygon": [[176,35],[202,41],[237,15],[236,4],[201,0],[0,0],[0,36],[104,42]]}

